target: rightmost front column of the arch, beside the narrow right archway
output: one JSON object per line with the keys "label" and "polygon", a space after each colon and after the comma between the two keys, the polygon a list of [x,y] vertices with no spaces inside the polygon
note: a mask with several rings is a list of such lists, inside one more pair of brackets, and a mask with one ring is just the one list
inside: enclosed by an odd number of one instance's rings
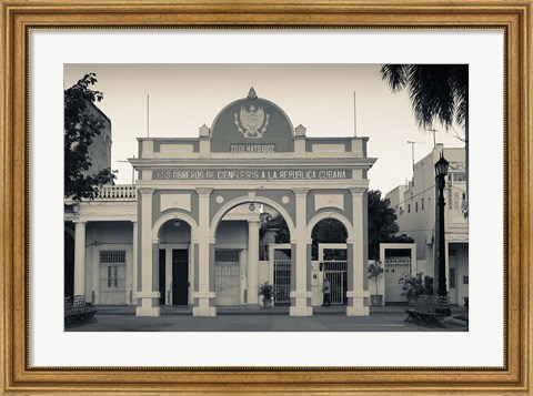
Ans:
{"label": "rightmost front column of the arch, beside the narrow right archway", "polygon": [[[352,260],[352,271],[349,274],[351,278],[348,282],[348,316],[368,316],[369,307],[368,299],[370,297],[368,287],[368,246],[366,246],[366,233],[368,233],[368,219],[366,219],[366,189],[353,187],[350,189],[352,193],[352,240],[349,243],[348,253]],[[348,260],[350,265],[350,258]],[[350,281],[352,285],[350,285]],[[366,299],[366,301],[365,301]]]}

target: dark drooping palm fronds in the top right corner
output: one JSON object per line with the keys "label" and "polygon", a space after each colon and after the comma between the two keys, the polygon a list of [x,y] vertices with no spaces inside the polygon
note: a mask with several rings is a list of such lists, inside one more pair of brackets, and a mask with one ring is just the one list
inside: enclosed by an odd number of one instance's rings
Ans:
{"label": "dark drooping palm fronds in the top right corner", "polygon": [[[469,196],[469,65],[383,64],[381,78],[392,92],[409,91],[414,119],[421,129],[440,122],[446,131],[455,122],[464,128],[466,200]],[[466,201],[467,202],[467,201]],[[467,215],[467,210],[465,216]]]}

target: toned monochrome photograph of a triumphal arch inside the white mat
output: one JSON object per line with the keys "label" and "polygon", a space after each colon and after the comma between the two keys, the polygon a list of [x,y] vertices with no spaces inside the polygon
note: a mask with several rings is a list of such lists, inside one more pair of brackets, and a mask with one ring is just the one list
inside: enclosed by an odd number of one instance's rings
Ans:
{"label": "toned monochrome photograph of a triumphal arch inside the white mat", "polygon": [[469,64],[63,84],[66,332],[469,332]]}

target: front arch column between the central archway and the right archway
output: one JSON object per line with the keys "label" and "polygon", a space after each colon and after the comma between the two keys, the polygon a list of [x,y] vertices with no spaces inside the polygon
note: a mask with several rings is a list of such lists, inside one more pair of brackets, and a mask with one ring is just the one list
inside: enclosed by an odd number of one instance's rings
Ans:
{"label": "front arch column between the central archway and the right archway", "polygon": [[[291,316],[312,316],[313,308],[309,304],[311,301],[311,285],[308,285],[308,272],[311,271],[311,264],[308,263],[308,210],[306,200],[309,189],[293,189],[296,201],[296,227],[295,235],[291,235],[291,244],[295,246],[294,273],[291,274],[295,278],[295,290],[291,291]],[[309,286],[309,287],[308,287]],[[309,288],[309,290],[308,290]]]}

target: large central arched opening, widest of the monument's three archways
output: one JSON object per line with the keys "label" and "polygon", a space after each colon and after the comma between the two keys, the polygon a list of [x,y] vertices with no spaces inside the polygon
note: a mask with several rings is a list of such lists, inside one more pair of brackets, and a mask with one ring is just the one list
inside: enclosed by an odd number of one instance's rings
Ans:
{"label": "large central arched opening, widest of the monument's three archways", "polygon": [[[229,202],[213,217],[211,230],[215,235],[212,238],[215,246],[211,266],[214,272],[215,306],[260,304],[259,285],[269,282],[275,286],[276,281],[281,280],[278,276],[280,268],[275,267],[275,262],[272,267],[272,261],[269,261],[269,245],[275,244],[274,234],[278,230],[269,227],[280,223],[281,219],[286,230],[284,236],[289,238],[284,242],[290,242],[290,231],[280,213],[284,210],[280,207],[278,211],[273,206],[278,205],[266,197],[241,197]],[[290,245],[288,250],[291,251]],[[286,305],[290,305],[291,266],[289,258],[283,271],[283,287],[278,285],[280,292],[286,292],[286,298],[283,299]]]}

